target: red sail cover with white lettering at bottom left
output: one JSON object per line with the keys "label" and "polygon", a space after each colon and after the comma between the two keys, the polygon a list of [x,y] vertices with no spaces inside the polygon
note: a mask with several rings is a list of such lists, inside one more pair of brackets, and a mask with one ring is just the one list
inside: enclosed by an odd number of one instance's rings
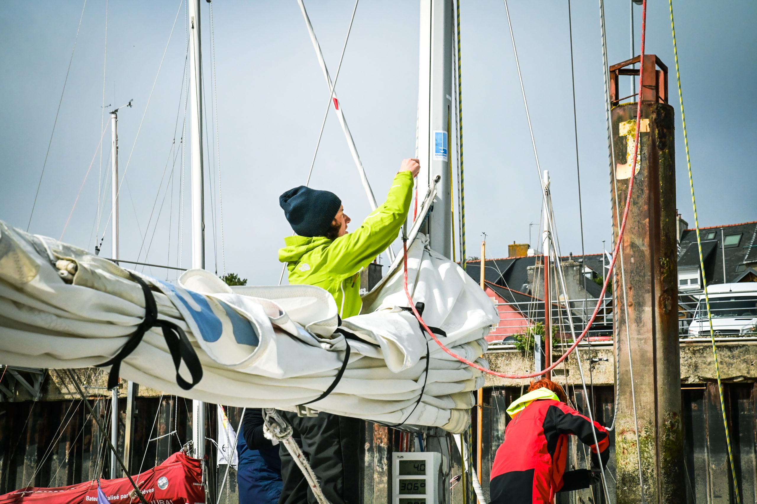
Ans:
{"label": "red sail cover with white lettering at bottom left", "polygon": [[[199,459],[176,452],[165,462],[132,479],[153,504],[199,504],[205,502],[202,469]],[[100,487],[113,504],[140,502],[129,478],[100,480]],[[11,502],[45,502],[46,504],[97,503],[97,480],[69,487],[26,487],[0,496],[0,504]]]}

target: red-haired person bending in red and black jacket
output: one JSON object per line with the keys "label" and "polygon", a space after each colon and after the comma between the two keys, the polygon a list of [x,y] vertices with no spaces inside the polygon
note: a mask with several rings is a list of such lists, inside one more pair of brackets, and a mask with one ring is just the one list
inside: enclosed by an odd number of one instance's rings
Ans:
{"label": "red-haired person bending in red and black jacket", "polygon": [[[552,380],[538,380],[509,406],[512,421],[491,468],[490,504],[551,504],[557,492],[588,488],[600,481],[594,436],[606,465],[607,431],[565,402],[562,387]],[[568,434],[591,446],[591,469],[565,472]]]}

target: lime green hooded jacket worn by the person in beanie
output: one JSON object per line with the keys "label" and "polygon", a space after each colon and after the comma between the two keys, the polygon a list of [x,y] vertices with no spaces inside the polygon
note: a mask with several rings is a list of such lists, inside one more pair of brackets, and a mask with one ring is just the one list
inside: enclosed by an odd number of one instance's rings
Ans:
{"label": "lime green hooded jacket worn by the person in beanie", "polygon": [[288,236],[279,249],[279,261],[288,263],[289,283],[322,287],[334,296],[342,318],[360,313],[360,271],[397,238],[413,193],[413,174],[394,177],[386,202],[352,233],[337,239],[326,236]]}

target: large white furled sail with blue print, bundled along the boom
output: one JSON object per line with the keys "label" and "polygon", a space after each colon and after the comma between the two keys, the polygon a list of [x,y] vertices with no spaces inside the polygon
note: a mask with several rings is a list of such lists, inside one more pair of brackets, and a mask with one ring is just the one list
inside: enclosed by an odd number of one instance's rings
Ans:
{"label": "large white furled sail with blue print, bundled along the boom", "polygon": [[[429,249],[422,234],[407,264],[413,301],[424,303],[428,326],[457,355],[487,366],[484,337],[499,321],[491,299]],[[120,377],[165,393],[289,411],[309,403],[337,415],[461,432],[472,390],[484,384],[481,371],[444,353],[403,309],[402,268],[366,296],[360,315],[340,320],[332,296],[316,286],[229,287],[204,270],[169,283],[2,221],[0,362],[32,368],[108,362],[145,320],[147,294],[132,275],[146,284],[157,321],[183,330],[202,367],[201,380],[182,388],[177,380],[189,381],[186,361],[177,373],[170,339],[161,327],[149,328],[123,358]]]}

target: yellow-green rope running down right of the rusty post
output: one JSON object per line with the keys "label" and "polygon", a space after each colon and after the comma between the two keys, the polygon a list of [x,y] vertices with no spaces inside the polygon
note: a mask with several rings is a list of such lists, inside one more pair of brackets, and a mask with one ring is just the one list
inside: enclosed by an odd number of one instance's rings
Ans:
{"label": "yellow-green rope running down right of the rusty post", "polygon": [[[684,114],[684,92],[681,89],[681,70],[678,68],[678,46],[675,43],[675,24],[673,23],[673,0],[668,0],[670,7],[670,28],[673,38],[673,55],[675,59],[675,78],[678,83],[678,103],[681,105],[681,123],[684,127],[684,147],[686,150],[686,167],[689,172],[689,188],[691,190],[691,206],[694,211],[694,229],[696,229],[696,246],[699,249],[699,270],[702,271],[702,286],[704,287],[705,303],[707,305],[707,321],[710,328],[710,339],[712,340],[712,357],[715,359],[715,377],[718,379],[718,393],[720,393],[720,409],[723,415],[723,427],[725,429],[725,441],[728,446],[728,461],[731,463],[731,477],[734,481],[734,493],[736,495],[736,504],[740,504],[739,482],[736,477],[736,465],[734,464],[734,452],[731,449],[731,433],[728,429],[728,419],[725,415],[725,401],[723,398],[723,383],[720,380],[720,366],[718,365],[718,347],[715,345],[715,331],[712,329],[712,312],[709,305],[709,293],[707,293],[707,279],[705,276],[704,258],[702,257],[702,237],[699,235],[699,217],[696,212],[696,199],[694,198],[694,177],[691,173],[691,158],[689,155],[689,139],[686,134],[686,115]],[[643,40],[643,39],[642,39]],[[642,42],[643,43],[643,42]],[[641,86],[639,86],[641,89]],[[723,283],[726,278],[723,277]]]}

